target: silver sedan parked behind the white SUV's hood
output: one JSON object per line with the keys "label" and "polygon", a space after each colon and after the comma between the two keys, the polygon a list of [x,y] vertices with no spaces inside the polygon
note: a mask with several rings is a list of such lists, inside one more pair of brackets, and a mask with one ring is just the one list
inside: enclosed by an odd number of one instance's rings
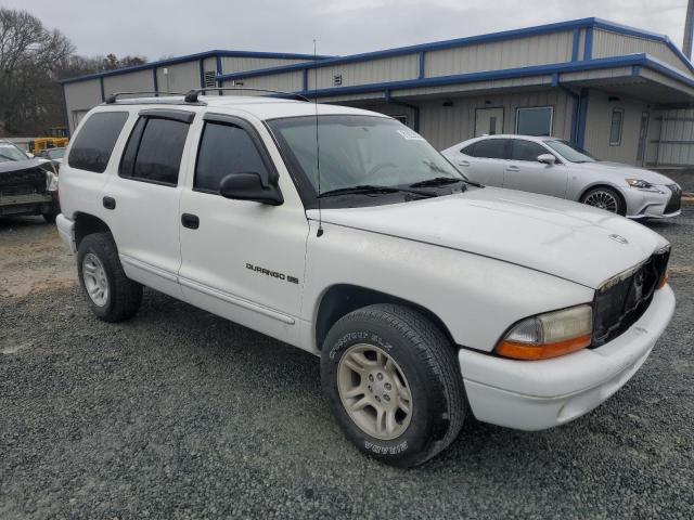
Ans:
{"label": "silver sedan parked behind the white SUV's hood", "polygon": [[680,214],[682,190],[671,179],[599,160],[557,138],[486,135],[441,153],[481,184],[567,198],[632,219]]}

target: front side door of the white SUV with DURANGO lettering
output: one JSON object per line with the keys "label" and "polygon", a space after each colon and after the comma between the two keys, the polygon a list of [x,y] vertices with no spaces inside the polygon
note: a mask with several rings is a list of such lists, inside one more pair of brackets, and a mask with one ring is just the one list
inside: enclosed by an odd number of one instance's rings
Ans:
{"label": "front side door of the white SUV with DURANGO lettering", "polygon": [[[191,154],[181,196],[179,278],[183,296],[265,334],[294,342],[298,336],[308,221],[286,171],[284,204],[269,206],[219,195],[228,174],[274,174],[283,165],[261,135],[267,130],[240,117],[206,114]],[[266,141],[266,142],[268,142]]]}

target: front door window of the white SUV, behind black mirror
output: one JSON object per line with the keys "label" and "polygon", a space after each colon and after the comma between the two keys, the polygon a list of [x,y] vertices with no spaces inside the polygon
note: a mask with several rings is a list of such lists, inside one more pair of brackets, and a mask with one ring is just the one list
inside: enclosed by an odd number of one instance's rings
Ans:
{"label": "front door window of the white SUV, behind black mirror", "polygon": [[197,152],[193,188],[219,191],[219,183],[230,173],[259,173],[268,178],[260,153],[248,133],[233,125],[206,122]]}

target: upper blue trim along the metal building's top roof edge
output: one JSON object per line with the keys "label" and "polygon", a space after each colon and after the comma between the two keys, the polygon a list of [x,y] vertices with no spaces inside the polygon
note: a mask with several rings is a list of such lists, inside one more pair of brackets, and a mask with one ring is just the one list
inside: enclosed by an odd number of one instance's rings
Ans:
{"label": "upper blue trim along the metal building's top roof edge", "polygon": [[[407,54],[416,54],[416,53],[422,53],[427,51],[437,51],[442,49],[465,47],[465,46],[472,46],[476,43],[486,43],[491,41],[503,41],[503,40],[510,40],[514,38],[524,38],[524,37],[530,37],[530,36],[547,35],[552,32],[561,32],[565,30],[575,31],[575,30],[580,30],[581,28],[587,29],[586,42],[584,42],[586,49],[583,53],[583,60],[586,61],[591,60],[592,57],[591,54],[592,54],[593,28],[600,28],[604,30],[611,30],[613,32],[619,32],[626,36],[638,36],[640,38],[661,41],[666,43],[683,61],[683,63],[694,73],[694,65],[692,65],[692,63],[684,56],[684,54],[682,54],[682,52],[674,44],[672,44],[672,42],[667,36],[657,35],[655,32],[650,32],[650,31],[637,29],[633,27],[627,27],[625,25],[614,24],[612,22],[607,22],[605,20],[594,18],[594,17],[571,20],[568,22],[558,22],[554,24],[540,25],[536,27],[527,27],[523,29],[512,29],[512,30],[504,30],[500,32],[490,32],[486,35],[470,36],[465,38],[458,38],[453,40],[445,40],[445,41],[438,41],[433,43],[420,43],[416,46],[400,47],[397,49],[389,49],[384,51],[365,52],[361,54],[352,54],[349,56],[329,57],[329,58],[321,60],[314,66],[329,67],[332,65],[339,65],[345,63],[355,63],[355,62],[362,62],[362,61],[369,61],[369,60],[377,60],[382,57],[394,57],[394,56],[401,56]],[[574,37],[576,37],[576,34],[574,34]],[[571,54],[573,54],[571,57],[574,57],[574,55],[576,56],[578,55],[577,38],[574,39],[573,46],[576,48],[576,51],[571,49]],[[228,79],[243,79],[243,78],[253,78],[258,76],[270,76],[273,74],[301,70],[306,67],[307,65],[300,64],[300,63],[295,65],[282,65],[279,67],[269,67],[269,68],[257,69],[257,70],[248,70],[245,73],[223,74],[220,76],[219,79],[223,81]],[[309,68],[312,68],[312,67],[313,67],[313,64],[311,64],[311,67]]]}

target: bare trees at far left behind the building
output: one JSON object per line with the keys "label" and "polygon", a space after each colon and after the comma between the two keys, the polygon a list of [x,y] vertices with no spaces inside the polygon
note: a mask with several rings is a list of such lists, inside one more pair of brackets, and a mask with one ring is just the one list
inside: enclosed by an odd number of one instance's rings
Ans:
{"label": "bare trees at far left behind the building", "polygon": [[0,136],[43,135],[63,126],[61,79],[146,63],[75,51],[69,38],[27,11],[0,8]]}

